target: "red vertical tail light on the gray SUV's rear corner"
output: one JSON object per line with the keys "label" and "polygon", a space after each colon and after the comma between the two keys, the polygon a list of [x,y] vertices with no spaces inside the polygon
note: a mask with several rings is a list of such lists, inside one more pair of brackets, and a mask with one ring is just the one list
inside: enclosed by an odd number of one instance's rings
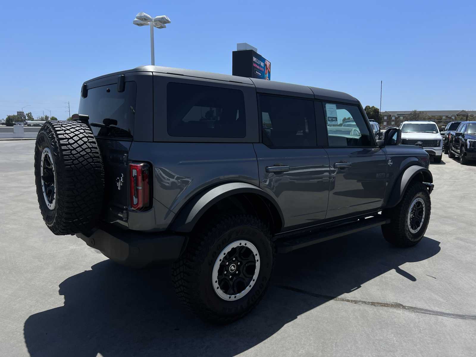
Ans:
{"label": "red vertical tail light on the gray SUV's rear corner", "polygon": [[144,210],[150,206],[150,167],[146,163],[129,164],[130,207]]}

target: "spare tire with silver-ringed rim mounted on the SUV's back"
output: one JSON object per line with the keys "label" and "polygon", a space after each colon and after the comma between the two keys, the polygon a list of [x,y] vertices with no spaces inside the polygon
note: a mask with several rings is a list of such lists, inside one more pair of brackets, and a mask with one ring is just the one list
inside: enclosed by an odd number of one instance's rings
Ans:
{"label": "spare tire with silver-ringed rim mounted on the SUV's back", "polygon": [[89,232],[104,197],[98,143],[79,121],[48,121],[35,145],[35,183],[43,219],[56,235]]}

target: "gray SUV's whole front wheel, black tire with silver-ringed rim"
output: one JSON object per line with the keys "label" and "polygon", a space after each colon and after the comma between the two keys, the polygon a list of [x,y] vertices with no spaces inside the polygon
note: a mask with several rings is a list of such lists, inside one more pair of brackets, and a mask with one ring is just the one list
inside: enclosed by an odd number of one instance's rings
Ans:
{"label": "gray SUV's whole front wheel, black tire with silver-ringed rim", "polygon": [[382,226],[384,238],[397,247],[412,247],[425,235],[430,221],[431,201],[426,186],[410,184],[405,196],[394,208],[383,212],[390,223]]}

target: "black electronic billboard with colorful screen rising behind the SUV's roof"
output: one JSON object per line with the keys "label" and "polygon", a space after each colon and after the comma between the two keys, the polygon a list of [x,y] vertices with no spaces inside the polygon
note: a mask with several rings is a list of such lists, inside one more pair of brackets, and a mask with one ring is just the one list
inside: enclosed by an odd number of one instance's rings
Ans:
{"label": "black electronic billboard with colorful screen rising behind the SUV's roof", "polygon": [[271,62],[254,50],[233,51],[232,74],[271,80]]}

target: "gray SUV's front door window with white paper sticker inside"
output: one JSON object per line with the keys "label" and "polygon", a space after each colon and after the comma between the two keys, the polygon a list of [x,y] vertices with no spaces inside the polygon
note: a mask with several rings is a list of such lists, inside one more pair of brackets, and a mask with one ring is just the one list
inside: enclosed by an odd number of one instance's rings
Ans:
{"label": "gray SUV's front door window with white paper sticker inside", "polygon": [[324,103],[329,146],[370,146],[370,133],[353,105]]}

